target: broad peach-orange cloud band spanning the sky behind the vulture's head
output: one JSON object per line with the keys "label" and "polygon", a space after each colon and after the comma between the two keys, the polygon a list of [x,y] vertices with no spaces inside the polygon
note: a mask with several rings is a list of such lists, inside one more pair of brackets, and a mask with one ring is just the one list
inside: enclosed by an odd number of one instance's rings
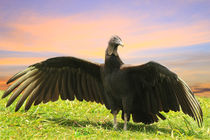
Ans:
{"label": "broad peach-orange cloud band spanning the sky behind the vulture's head", "polygon": [[0,46],[5,50],[50,50],[79,57],[103,58],[107,40],[112,34],[120,35],[129,46],[122,52],[210,42],[208,21],[188,25],[154,25],[119,15],[104,15],[94,19],[86,16],[21,17],[7,24],[13,30],[1,37]]}

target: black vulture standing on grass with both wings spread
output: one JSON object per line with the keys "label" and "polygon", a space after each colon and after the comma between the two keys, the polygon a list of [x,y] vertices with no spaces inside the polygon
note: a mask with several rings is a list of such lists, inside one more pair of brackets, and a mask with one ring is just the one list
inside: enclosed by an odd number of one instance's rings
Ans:
{"label": "black vulture standing on grass with both wings spread", "polygon": [[114,117],[122,111],[124,130],[133,122],[152,124],[166,117],[161,112],[180,111],[197,121],[200,127],[203,113],[189,86],[165,66],[148,62],[125,65],[117,52],[124,46],[117,35],[111,37],[105,52],[104,64],[76,57],[54,57],[30,65],[11,77],[11,85],[2,98],[10,96],[6,107],[15,99],[15,111],[25,103],[25,110],[33,105],[62,100],[91,101],[105,105]]}

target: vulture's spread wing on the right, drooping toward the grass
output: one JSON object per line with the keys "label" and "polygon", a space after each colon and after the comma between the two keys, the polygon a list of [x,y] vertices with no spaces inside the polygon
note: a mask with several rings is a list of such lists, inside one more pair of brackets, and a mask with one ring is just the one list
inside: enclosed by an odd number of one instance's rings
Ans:
{"label": "vulture's spread wing on the right, drooping toward the grass", "polygon": [[155,62],[122,70],[126,71],[129,86],[139,103],[136,110],[160,116],[160,111],[180,111],[181,106],[185,114],[193,117],[199,126],[202,125],[203,113],[198,101],[189,86],[175,73]]}

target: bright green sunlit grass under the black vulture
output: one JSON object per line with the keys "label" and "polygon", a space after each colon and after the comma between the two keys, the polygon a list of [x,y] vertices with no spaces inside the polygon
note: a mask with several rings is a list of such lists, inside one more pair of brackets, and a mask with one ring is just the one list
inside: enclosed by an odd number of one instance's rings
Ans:
{"label": "bright green sunlit grass under the black vulture", "polygon": [[15,104],[5,108],[7,98],[0,100],[0,139],[208,139],[210,98],[198,99],[204,112],[201,128],[189,116],[169,112],[165,121],[152,125],[131,121],[123,131],[121,114],[114,130],[113,116],[100,104],[59,100],[14,112]]}

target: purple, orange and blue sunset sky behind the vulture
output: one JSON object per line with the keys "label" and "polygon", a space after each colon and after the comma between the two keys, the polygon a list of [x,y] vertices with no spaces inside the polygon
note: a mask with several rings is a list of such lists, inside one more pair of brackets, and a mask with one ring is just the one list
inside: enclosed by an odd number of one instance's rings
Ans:
{"label": "purple, orange and blue sunset sky behind the vulture", "polygon": [[124,63],[156,61],[210,95],[209,0],[0,0],[0,89],[50,57],[103,63],[112,35]]}

